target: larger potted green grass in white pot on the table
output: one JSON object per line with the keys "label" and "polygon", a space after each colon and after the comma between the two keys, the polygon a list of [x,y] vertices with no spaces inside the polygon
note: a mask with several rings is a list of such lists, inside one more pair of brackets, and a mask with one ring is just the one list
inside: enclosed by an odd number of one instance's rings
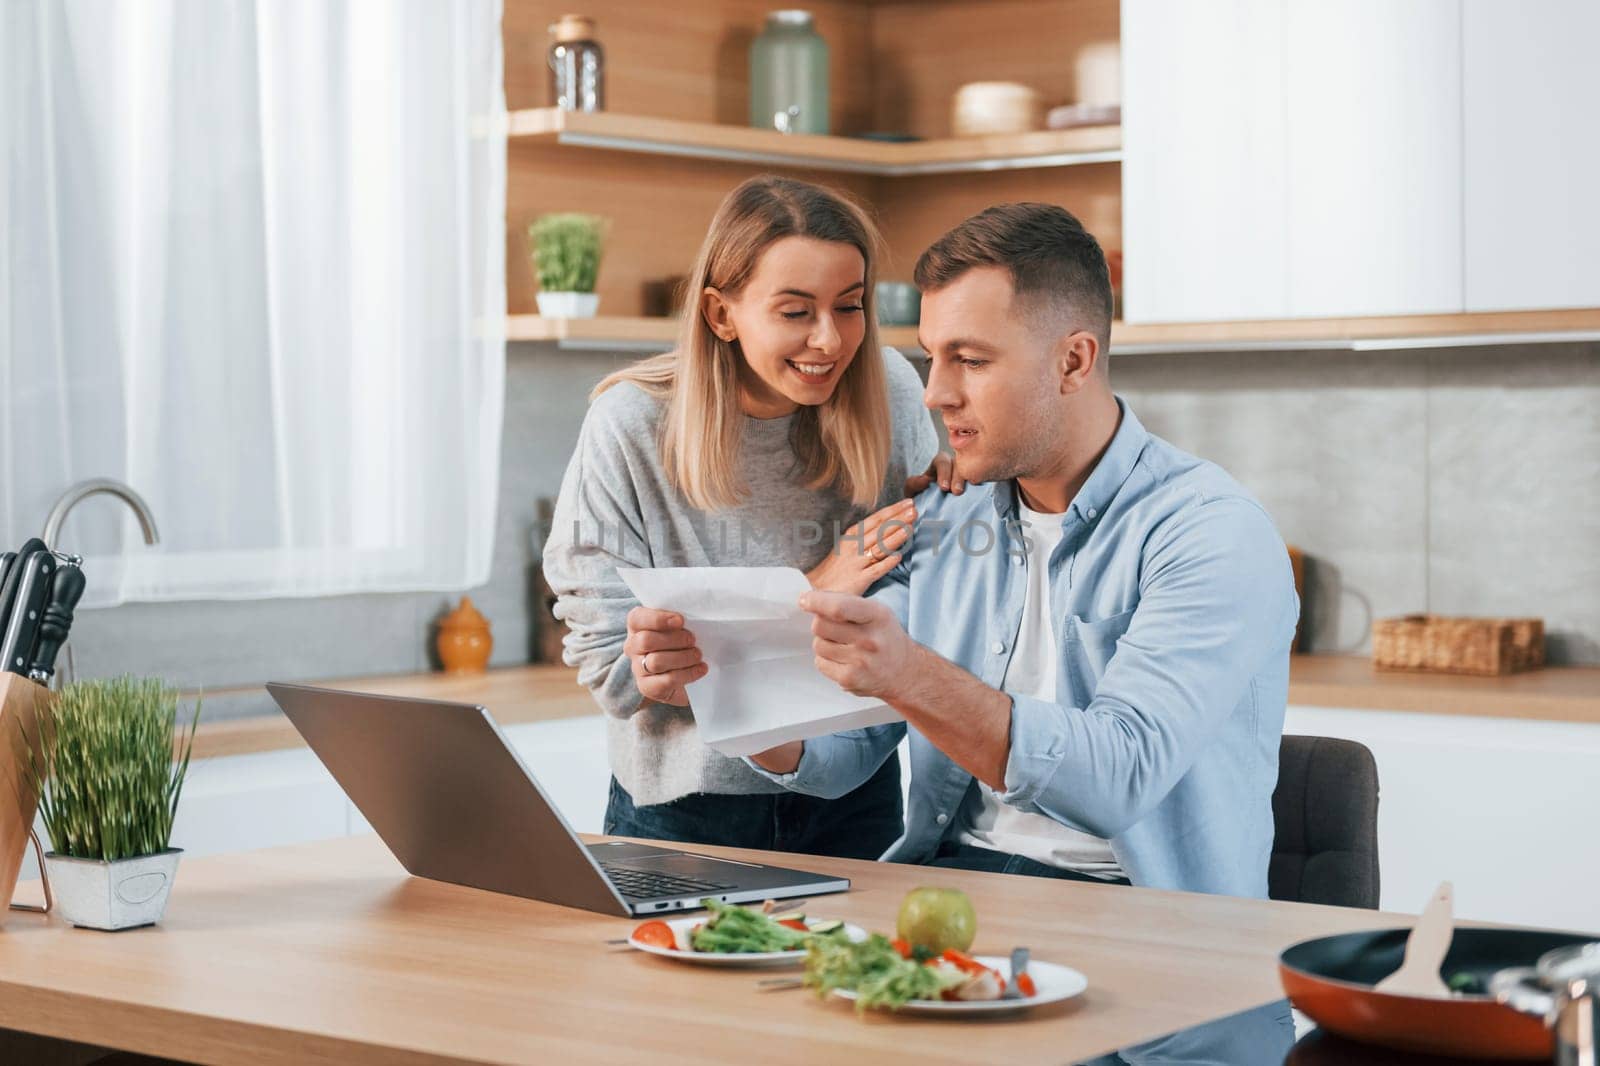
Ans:
{"label": "larger potted green grass in white pot on the table", "polygon": [[50,836],[45,872],[74,925],[160,920],[182,855],[170,840],[198,720],[195,701],[179,733],[178,691],[155,677],[75,682],[40,709],[29,776]]}

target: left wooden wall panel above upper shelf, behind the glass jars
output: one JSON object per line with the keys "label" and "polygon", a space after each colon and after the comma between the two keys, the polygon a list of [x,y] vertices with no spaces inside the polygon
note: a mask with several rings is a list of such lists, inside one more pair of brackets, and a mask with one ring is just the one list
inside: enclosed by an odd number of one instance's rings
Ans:
{"label": "left wooden wall panel above upper shelf, behind the glass jars", "polygon": [[[595,19],[605,48],[606,110],[690,122],[746,125],[750,40],[771,0],[506,0],[506,106],[547,107],[547,27],[571,11]],[[829,46],[832,131],[859,133],[872,117],[874,10],[840,0],[806,0]]]}

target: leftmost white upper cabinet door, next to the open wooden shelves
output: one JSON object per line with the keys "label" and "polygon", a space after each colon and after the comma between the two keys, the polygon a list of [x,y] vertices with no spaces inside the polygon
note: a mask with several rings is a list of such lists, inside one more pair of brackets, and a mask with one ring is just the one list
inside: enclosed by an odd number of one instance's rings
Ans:
{"label": "leftmost white upper cabinet door, next to the open wooden shelves", "polygon": [[1123,0],[1123,312],[1278,319],[1282,0]]}

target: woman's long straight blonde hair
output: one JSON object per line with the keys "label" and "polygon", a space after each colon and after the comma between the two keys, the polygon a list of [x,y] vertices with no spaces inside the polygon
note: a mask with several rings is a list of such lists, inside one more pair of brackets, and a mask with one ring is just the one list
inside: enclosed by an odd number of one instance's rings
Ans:
{"label": "woman's long straight blonde hair", "polygon": [[629,381],[667,405],[661,426],[661,466],[674,488],[702,511],[741,503],[744,411],[739,407],[738,341],[712,333],[701,312],[707,287],[736,296],[766,248],[784,237],[853,245],[866,262],[866,333],[826,403],[795,413],[797,469],[808,488],[835,488],[858,506],[872,506],[890,458],[888,373],[878,349],[874,272],[880,237],[872,219],[843,195],[790,178],[752,178],[728,194],[712,218],[685,287],[678,346],[610,375],[590,399]]}

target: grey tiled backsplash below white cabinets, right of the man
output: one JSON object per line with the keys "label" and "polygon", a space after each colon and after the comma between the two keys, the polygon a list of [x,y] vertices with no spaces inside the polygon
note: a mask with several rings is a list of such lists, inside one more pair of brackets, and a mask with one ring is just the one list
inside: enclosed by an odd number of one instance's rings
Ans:
{"label": "grey tiled backsplash below white cabinets, right of the man", "polygon": [[1310,557],[1309,650],[1370,619],[1533,615],[1600,663],[1600,344],[1138,355],[1112,381]]}

